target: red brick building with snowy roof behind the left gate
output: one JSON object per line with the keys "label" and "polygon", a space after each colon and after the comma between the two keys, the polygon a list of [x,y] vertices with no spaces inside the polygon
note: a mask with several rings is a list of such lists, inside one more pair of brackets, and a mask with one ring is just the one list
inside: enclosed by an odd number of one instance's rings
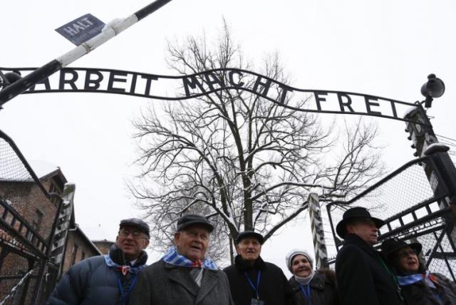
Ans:
{"label": "red brick building with snowy roof behind the left gate", "polygon": [[[33,244],[40,245],[41,238],[41,244],[48,243],[60,202],[58,197],[49,197],[46,192],[62,195],[67,180],[59,167],[45,162],[32,162],[31,167],[43,189],[31,177],[17,177],[17,171],[11,176],[0,170],[0,301],[26,273],[31,272],[21,289],[5,304],[31,304],[35,291],[44,291],[41,296],[48,295],[58,277],[73,264],[101,254],[76,224],[72,210],[63,262],[53,276],[45,276],[46,283],[37,281],[40,267],[48,265],[41,264],[46,258],[39,257],[33,251]],[[26,240],[20,237],[25,237]],[[44,249],[43,252],[48,251],[46,248],[41,249]],[[49,269],[45,272],[49,272]],[[48,278],[53,280],[48,281]],[[41,301],[46,301],[44,298]]]}

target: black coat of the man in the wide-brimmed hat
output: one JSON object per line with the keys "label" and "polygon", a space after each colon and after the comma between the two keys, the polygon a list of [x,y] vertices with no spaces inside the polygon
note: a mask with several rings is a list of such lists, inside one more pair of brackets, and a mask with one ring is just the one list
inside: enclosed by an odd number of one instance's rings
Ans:
{"label": "black coat of the man in the wide-brimmed hat", "polygon": [[373,247],[346,234],[336,257],[336,281],[342,305],[403,305],[393,273]]}

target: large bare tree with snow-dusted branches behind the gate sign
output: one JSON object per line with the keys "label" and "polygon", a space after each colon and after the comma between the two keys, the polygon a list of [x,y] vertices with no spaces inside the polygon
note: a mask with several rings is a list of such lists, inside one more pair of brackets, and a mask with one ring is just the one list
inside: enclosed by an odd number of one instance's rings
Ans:
{"label": "large bare tree with snow-dusted branches behind the gate sign", "polygon": [[[180,74],[251,68],[226,23],[214,46],[203,36],[168,48],[168,63]],[[258,72],[287,83],[276,55]],[[243,229],[267,240],[306,210],[309,192],[318,192],[323,202],[343,198],[382,172],[372,125],[346,125],[345,137],[334,135],[333,125],[323,126],[316,115],[236,89],[168,103],[160,115],[150,108],[134,125],[143,171],[130,190],[152,221],[158,245],[172,239],[181,214],[197,210],[217,222],[217,251],[226,254],[227,237],[235,239]],[[338,153],[331,153],[334,148]],[[332,162],[325,160],[328,153]]]}

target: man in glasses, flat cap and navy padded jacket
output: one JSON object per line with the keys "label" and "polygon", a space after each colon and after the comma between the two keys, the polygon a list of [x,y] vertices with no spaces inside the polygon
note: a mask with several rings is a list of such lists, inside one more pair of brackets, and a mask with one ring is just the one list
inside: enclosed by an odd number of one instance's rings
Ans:
{"label": "man in glasses, flat cap and navy padded jacket", "polygon": [[123,219],[109,254],[84,259],[71,267],[47,304],[128,305],[130,292],[147,262],[144,249],[149,239],[145,222],[138,218]]}

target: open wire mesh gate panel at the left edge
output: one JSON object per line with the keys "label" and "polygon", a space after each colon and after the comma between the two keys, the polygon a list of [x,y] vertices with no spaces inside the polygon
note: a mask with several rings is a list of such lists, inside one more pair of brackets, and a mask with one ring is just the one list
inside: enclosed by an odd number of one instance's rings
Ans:
{"label": "open wire mesh gate panel at the left edge", "polygon": [[56,211],[46,187],[0,130],[1,304],[41,304],[46,290],[41,282],[49,277],[43,275],[55,273],[48,248]]}

